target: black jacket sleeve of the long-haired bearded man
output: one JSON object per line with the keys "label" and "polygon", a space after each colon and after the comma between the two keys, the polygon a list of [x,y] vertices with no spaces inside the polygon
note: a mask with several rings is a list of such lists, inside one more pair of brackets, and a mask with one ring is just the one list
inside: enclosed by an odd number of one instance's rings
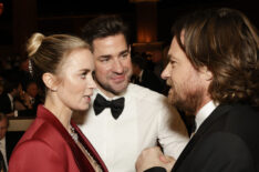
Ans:
{"label": "black jacket sleeve of the long-haired bearded man", "polygon": [[250,150],[238,135],[217,132],[193,149],[180,171],[256,172],[255,165]]}

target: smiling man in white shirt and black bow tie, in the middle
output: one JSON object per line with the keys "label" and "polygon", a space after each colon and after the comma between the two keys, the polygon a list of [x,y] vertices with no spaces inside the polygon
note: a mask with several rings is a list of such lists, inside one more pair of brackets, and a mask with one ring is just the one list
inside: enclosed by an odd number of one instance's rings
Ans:
{"label": "smiling man in white shirt and black bow tie, in the middle", "polygon": [[135,171],[141,151],[156,145],[157,141],[165,154],[177,159],[188,141],[186,128],[164,95],[130,83],[131,47],[121,18],[107,16],[90,21],[83,29],[83,38],[94,54],[97,90],[81,130],[107,169]]}

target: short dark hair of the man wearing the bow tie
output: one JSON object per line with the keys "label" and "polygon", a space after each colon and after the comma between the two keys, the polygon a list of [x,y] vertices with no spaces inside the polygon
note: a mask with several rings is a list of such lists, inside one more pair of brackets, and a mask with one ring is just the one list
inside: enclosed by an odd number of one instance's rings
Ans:
{"label": "short dark hair of the man wearing the bow tie", "polygon": [[82,29],[82,38],[93,47],[93,41],[99,38],[116,36],[122,33],[126,43],[130,44],[130,33],[127,24],[120,16],[100,16],[90,20]]}

